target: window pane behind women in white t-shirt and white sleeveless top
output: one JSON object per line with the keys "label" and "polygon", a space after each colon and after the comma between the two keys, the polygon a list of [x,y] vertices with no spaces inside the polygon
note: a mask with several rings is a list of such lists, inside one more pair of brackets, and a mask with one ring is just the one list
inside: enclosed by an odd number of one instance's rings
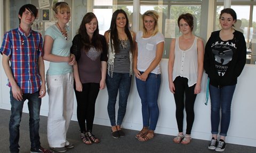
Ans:
{"label": "window pane behind women in white t-shirt and white sleeveless top", "polygon": [[159,31],[165,37],[163,58],[169,58],[170,43],[172,38],[181,35],[177,20],[183,13],[194,15],[194,34],[199,36],[201,21],[201,1],[140,1],[140,22],[139,29],[142,28],[141,14],[147,10],[155,10],[159,14]]}

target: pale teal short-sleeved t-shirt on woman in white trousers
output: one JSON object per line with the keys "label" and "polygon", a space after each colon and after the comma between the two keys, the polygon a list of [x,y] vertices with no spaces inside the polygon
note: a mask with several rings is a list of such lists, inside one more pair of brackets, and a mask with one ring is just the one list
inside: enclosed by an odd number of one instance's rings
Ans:
{"label": "pale teal short-sleeved t-shirt on woman in white trousers", "polygon": [[[72,46],[71,37],[66,40],[56,25],[47,28],[45,35],[53,38],[52,54],[62,57],[68,57],[70,55],[70,47]],[[68,62],[50,62],[46,75],[62,75],[67,73],[73,73],[73,68],[68,65]]]}

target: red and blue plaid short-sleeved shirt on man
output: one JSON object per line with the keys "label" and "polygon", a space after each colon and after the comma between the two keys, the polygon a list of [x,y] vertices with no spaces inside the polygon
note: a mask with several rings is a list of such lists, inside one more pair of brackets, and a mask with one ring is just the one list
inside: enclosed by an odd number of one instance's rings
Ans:
{"label": "red and blue plaid short-sleeved shirt on man", "polygon": [[[0,52],[10,58],[13,77],[23,93],[35,93],[41,87],[37,62],[42,48],[42,35],[34,30],[26,36],[19,27],[4,35]],[[11,87],[9,81],[7,85]]]}

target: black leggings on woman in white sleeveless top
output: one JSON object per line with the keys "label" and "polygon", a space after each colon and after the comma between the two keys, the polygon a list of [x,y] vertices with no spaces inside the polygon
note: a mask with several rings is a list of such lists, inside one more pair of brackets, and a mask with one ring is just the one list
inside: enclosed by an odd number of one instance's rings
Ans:
{"label": "black leggings on woman in white sleeveless top", "polygon": [[[196,94],[194,94],[194,89],[196,84],[188,87],[188,79],[185,77],[176,77],[174,80],[175,86],[175,104],[176,104],[176,120],[178,124],[179,132],[183,132],[183,110],[184,106],[186,108],[187,114],[187,130],[186,134],[191,134],[191,129],[194,123],[194,103],[196,100]],[[184,93],[185,93],[185,104],[184,104]]]}

